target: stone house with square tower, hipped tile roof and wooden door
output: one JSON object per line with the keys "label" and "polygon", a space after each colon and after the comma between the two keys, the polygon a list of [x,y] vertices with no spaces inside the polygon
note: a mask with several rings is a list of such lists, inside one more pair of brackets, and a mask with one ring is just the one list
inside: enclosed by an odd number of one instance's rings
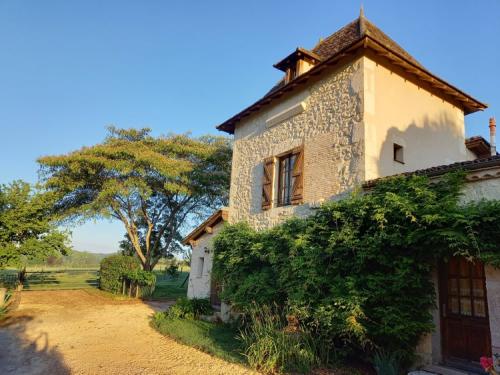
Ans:
{"label": "stone house with square tower, hipped tile roof and wooden door", "polygon": [[[401,173],[465,170],[465,200],[500,199],[494,119],[489,142],[465,138],[465,115],[487,106],[429,72],[363,13],[274,67],[283,79],[217,126],[234,135],[230,203],[185,239],[190,297],[210,295],[210,238],[226,220],[268,228]],[[437,328],[418,352],[430,366],[477,369],[480,356],[500,352],[500,271],[453,259],[436,265],[435,285]]]}

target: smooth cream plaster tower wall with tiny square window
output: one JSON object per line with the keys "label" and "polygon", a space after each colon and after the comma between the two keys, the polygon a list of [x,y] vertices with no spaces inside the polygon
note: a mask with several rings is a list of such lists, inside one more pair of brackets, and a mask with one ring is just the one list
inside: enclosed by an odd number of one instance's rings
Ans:
{"label": "smooth cream plaster tower wall with tiny square window", "polygon": [[[461,109],[369,57],[363,65],[367,180],[471,159]],[[404,164],[393,160],[394,143]]]}

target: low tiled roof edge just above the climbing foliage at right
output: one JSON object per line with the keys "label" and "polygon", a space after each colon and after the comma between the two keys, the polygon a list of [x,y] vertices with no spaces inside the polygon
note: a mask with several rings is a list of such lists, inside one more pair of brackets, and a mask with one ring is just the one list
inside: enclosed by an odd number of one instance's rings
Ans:
{"label": "low tiled roof edge just above the climbing foliage at right", "polygon": [[380,182],[386,178],[395,177],[395,176],[418,175],[418,176],[436,177],[436,176],[441,176],[441,175],[448,173],[448,172],[477,171],[480,169],[486,169],[486,168],[492,168],[492,167],[500,167],[500,155],[490,156],[487,158],[476,159],[476,160],[461,161],[461,162],[457,162],[457,163],[453,163],[453,164],[438,165],[436,167],[419,169],[419,170],[412,171],[412,172],[405,172],[405,173],[400,173],[400,174],[396,174],[396,175],[392,175],[392,176],[375,178],[373,180],[365,181],[363,183],[363,188],[365,188],[365,189],[371,188],[371,187],[375,186],[378,182]]}

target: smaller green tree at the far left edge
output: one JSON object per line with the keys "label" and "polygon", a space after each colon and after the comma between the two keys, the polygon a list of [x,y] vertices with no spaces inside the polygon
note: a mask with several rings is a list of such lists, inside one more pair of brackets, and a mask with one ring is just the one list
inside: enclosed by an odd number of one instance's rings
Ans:
{"label": "smaller green tree at the far left edge", "polygon": [[67,254],[67,233],[57,229],[56,196],[23,181],[0,185],[0,268]]}

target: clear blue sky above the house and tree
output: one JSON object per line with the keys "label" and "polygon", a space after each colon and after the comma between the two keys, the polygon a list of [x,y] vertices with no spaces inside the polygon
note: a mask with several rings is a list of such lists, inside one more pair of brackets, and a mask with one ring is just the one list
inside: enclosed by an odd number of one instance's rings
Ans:
{"label": "clear blue sky above the house and tree", "polygon": [[[430,71],[500,120],[500,2],[364,0],[365,14]],[[0,0],[0,183],[37,180],[36,158],[103,139],[214,126],[281,77],[272,64],[359,14],[359,1]],[[75,227],[77,250],[112,252],[119,223]]]}

